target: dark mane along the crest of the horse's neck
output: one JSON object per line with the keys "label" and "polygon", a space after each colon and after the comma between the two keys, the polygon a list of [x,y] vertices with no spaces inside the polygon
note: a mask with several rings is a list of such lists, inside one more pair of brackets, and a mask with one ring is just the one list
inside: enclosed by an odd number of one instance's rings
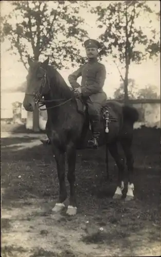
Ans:
{"label": "dark mane along the crest of the horse's neck", "polygon": [[50,80],[51,90],[53,89],[55,97],[58,98],[74,98],[74,93],[71,91],[70,87],[66,84],[63,77],[53,66],[48,65],[48,75]]}

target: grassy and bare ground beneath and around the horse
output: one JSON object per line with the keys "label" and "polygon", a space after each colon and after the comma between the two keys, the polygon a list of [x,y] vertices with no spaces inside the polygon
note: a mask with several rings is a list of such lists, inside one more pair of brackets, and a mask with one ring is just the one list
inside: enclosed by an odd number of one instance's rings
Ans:
{"label": "grassy and bare ground beneath and around the horse", "polygon": [[106,182],[104,148],[78,151],[75,217],[51,212],[59,193],[56,163],[49,146],[27,148],[34,140],[1,139],[3,257],[160,255],[160,130],[134,131],[129,203],[112,200],[117,169],[110,157],[112,182]]}

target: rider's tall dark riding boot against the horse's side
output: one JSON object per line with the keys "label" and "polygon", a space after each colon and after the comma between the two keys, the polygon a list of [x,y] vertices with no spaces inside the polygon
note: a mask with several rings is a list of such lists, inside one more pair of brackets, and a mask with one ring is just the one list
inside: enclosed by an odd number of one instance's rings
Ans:
{"label": "rider's tall dark riding boot against the horse's side", "polygon": [[100,116],[97,115],[96,117],[94,117],[91,123],[93,137],[90,140],[88,140],[88,148],[98,149],[98,142],[100,136]]}

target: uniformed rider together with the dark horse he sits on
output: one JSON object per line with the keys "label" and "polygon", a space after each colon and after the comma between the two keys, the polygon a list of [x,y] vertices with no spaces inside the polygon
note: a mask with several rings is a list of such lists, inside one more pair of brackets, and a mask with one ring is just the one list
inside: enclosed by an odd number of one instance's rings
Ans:
{"label": "uniformed rider together with the dark horse he sits on", "polygon": [[[103,140],[102,142],[99,140],[99,145],[106,146],[105,159],[107,178],[109,178],[108,151],[117,163],[118,181],[117,189],[113,197],[116,199],[122,197],[124,182],[126,182],[126,184],[128,184],[128,190],[126,188],[126,199],[131,200],[134,198],[134,158],[131,149],[134,130],[133,125],[138,121],[139,114],[136,108],[116,101],[109,101],[103,104],[106,101],[106,95],[102,90],[105,80],[105,68],[97,61],[99,45],[97,41],[88,40],[85,43],[85,47],[88,62],[81,66],[74,74],[71,74],[69,80],[70,83],[73,84],[73,87],[76,88],[77,94],[81,94],[82,97],[86,99],[88,112],[93,118],[94,140],[93,138],[93,141],[91,140],[93,146],[97,146],[98,136],[100,134],[99,131],[101,131],[101,138]],[[72,216],[77,213],[75,170],[77,150],[80,149],[78,142],[80,142],[80,139],[83,141],[82,136],[85,134],[83,134],[83,129],[84,132],[87,132],[87,119],[79,112],[78,105],[81,102],[74,97],[73,91],[67,86],[59,72],[48,63],[49,58],[43,63],[32,61],[28,58],[30,67],[23,106],[26,111],[33,112],[35,104],[40,103],[41,105],[46,105],[48,115],[46,135],[50,140],[52,154],[55,156],[59,179],[59,196],[52,211],[60,212],[65,207],[64,201],[67,198],[65,163],[67,159],[67,179],[70,185],[70,197],[66,213]],[[82,76],[81,86],[77,84],[77,78],[79,76]],[[44,96],[44,101],[41,101],[42,96]],[[82,104],[80,105],[82,106]],[[102,105],[104,105],[103,108]],[[54,111],[52,111],[52,109],[54,109]],[[103,111],[105,121],[110,119],[109,127],[106,126],[105,128],[103,122],[100,122],[100,109],[101,112]],[[105,115],[106,111],[108,111],[107,120]],[[115,118],[115,120],[112,118]],[[107,128],[108,130],[106,130]],[[108,136],[105,133],[109,133]],[[126,155],[128,168],[128,172],[126,173],[124,173],[124,161],[122,161],[118,151],[118,142],[121,144],[122,150]]]}

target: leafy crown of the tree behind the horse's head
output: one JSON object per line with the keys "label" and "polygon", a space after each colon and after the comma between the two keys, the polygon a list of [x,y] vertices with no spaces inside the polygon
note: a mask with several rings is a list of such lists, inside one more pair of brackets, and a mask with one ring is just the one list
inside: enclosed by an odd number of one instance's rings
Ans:
{"label": "leafy crown of the tree behind the horse's head", "polygon": [[[79,1],[12,1],[14,10],[5,17],[3,36],[9,39],[13,53],[27,68],[27,56],[39,60],[40,55],[50,54],[52,65],[57,68],[81,62],[77,45],[84,40],[87,32],[83,29],[83,19],[79,15]],[[16,22],[14,22],[16,20]]]}

